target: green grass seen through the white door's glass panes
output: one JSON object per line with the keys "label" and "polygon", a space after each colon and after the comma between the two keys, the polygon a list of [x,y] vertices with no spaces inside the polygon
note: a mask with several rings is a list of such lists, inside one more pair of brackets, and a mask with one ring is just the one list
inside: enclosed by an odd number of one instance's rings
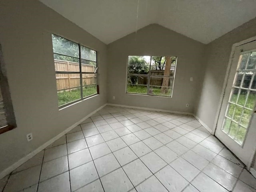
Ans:
{"label": "green grass seen through the white door's glass panes", "polygon": [[[237,98],[238,98],[238,94],[233,94],[230,101],[235,103]],[[246,94],[240,94],[238,98],[238,104],[244,106],[245,102],[246,102]],[[228,118],[225,119],[223,131],[228,133],[228,135],[232,137],[234,140],[236,140],[239,144],[243,143],[244,138],[246,136],[246,132],[247,132],[246,128],[248,128],[248,125],[250,123],[255,102],[256,102],[256,94],[252,94],[252,93],[249,94],[248,100],[245,106],[252,110],[245,109],[241,119],[241,125],[244,126],[245,128],[243,128],[242,126],[239,126],[235,122],[232,122]],[[233,120],[235,120],[236,122],[239,122],[242,115],[242,111],[243,111],[242,107],[236,106],[235,104],[230,104],[226,115],[232,118],[232,115],[234,113]]]}

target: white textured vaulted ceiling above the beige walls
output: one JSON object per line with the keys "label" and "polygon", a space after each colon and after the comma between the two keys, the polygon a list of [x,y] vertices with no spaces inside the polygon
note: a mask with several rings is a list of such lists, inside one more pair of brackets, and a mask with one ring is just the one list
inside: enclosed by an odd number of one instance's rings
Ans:
{"label": "white textured vaulted ceiling above the beige walls", "polygon": [[153,23],[207,44],[256,17],[256,0],[40,1],[106,44]]}

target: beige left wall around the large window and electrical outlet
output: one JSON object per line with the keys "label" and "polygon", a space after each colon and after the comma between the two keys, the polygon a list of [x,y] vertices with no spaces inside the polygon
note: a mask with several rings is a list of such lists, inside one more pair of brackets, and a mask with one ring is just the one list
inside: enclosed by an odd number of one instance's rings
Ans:
{"label": "beige left wall around the large window and electrical outlet", "polygon": [[[0,2],[0,43],[17,128],[0,135],[0,172],[106,103],[106,45],[36,0]],[[58,110],[51,33],[98,51],[100,95]],[[27,142],[26,134],[33,140]]]}

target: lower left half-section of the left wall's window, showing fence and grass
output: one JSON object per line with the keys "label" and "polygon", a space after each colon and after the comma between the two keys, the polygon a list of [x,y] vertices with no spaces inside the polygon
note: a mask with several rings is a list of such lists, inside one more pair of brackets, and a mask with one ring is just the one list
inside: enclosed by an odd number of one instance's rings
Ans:
{"label": "lower left half-section of the left wall's window, showing fence and grass", "polygon": [[80,74],[56,74],[58,106],[79,100]]}

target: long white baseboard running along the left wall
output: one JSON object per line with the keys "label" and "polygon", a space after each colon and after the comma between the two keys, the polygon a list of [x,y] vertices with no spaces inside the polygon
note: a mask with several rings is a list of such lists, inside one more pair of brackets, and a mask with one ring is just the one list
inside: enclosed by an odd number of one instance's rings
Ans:
{"label": "long white baseboard running along the left wall", "polygon": [[80,121],[76,122],[75,124],[73,124],[72,126],[70,126],[69,128],[67,128],[66,130],[64,130],[63,132],[61,132],[60,134],[58,134],[57,136],[55,136],[54,138],[50,139],[48,142],[44,143],[43,145],[41,145],[40,147],[38,147],[36,150],[30,152],[29,154],[27,154],[25,157],[21,158],[20,160],[18,160],[17,162],[15,162],[14,164],[12,164],[10,167],[6,168],[5,170],[3,170],[0,173],[0,179],[2,179],[4,176],[10,174],[12,171],[14,171],[16,168],[18,168],[19,166],[21,166],[23,163],[25,163],[26,161],[28,161],[30,158],[32,158],[33,156],[35,156],[36,154],[38,154],[40,151],[44,150],[44,148],[46,148],[47,146],[49,146],[50,144],[52,144],[54,141],[58,140],[60,137],[62,137],[63,135],[65,135],[66,133],[68,133],[69,131],[71,131],[74,127],[78,126],[80,123],[82,123],[84,120],[86,120],[88,117],[90,117],[91,115],[93,115],[94,113],[96,113],[98,110],[102,109],[104,106],[106,106],[107,104],[102,105],[101,107],[99,107],[98,109],[94,110],[93,112],[91,112],[90,114],[88,114],[86,117],[82,118]]}

